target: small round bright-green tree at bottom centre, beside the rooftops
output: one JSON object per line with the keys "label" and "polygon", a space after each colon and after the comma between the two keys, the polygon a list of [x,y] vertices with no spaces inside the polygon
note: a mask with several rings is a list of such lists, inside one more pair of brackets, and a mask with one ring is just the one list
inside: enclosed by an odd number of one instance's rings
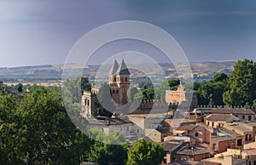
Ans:
{"label": "small round bright-green tree at bottom centre, beside the rooftops", "polygon": [[164,160],[165,151],[157,142],[138,139],[128,152],[127,165],[156,165]]}

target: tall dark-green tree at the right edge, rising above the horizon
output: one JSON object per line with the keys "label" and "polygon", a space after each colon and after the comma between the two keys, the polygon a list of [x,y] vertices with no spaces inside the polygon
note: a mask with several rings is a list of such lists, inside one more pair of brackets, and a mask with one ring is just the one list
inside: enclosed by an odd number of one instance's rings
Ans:
{"label": "tall dark-green tree at the right edge, rising above the horizon", "polygon": [[227,105],[253,105],[256,99],[256,64],[253,60],[239,60],[234,65],[224,93]]}

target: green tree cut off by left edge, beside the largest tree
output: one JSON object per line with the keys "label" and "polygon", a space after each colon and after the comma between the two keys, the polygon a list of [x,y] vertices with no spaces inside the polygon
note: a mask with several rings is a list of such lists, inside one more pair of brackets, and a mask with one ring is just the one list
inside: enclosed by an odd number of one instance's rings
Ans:
{"label": "green tree cut off by left edge, beside the largest tree", "polygon": [[13,94],[0,96],[0,161],[1,164],[22,164],[25,155],[20,152],[20,116],[18,99]]}

